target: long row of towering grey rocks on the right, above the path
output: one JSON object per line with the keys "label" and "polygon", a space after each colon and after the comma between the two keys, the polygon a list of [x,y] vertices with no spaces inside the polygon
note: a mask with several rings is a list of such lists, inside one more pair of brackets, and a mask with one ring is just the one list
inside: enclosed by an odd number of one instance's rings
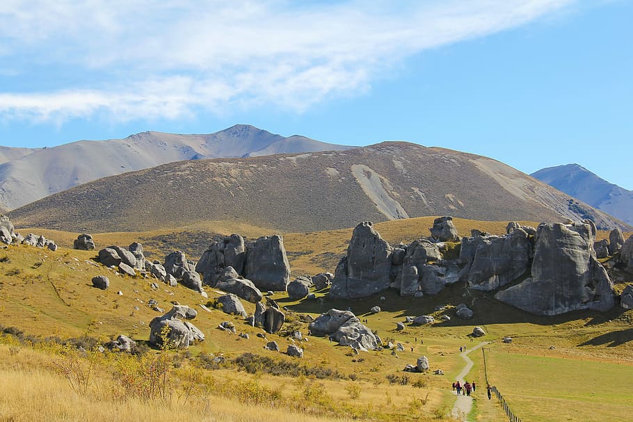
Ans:
{"label": "long row of towering grey rocks on the right, above the path", "polygon": [[[401,295],[421,296],[463,281],[469,289],[497,291],[498,300],[532,314],[606,311],[615,305],[614,285],[595,248],[618,253],[618,265],[633,270],[633,236],[624,242],[616,229],[609,242],[595,246],[591,220],[543,223],[537,229],[511,222],[503,236],[473,230],[461,239],[459,257],[452,259],[444,257],[447,242],[458,239],[452,218],[435,219],[430,231],[429,238],[392,247],[371,222],[362,222],[339,261],[330,295],[358,299],[394,288]],[[472,318],[465,305],[457,314]]]}

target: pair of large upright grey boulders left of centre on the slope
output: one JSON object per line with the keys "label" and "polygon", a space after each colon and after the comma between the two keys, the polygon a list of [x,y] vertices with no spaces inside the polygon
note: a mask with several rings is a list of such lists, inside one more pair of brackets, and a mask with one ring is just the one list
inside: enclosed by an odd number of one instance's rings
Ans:
{"label": "pair of large upright grey boulders left of centre on the slope", "polygon": [[216,286],[227,267],[262,291],[285,291],[290,282],[290,264],[278,235],[245,242],[239,234],[232,234],[209,246],[195,270],[203,275],[205,284]]}

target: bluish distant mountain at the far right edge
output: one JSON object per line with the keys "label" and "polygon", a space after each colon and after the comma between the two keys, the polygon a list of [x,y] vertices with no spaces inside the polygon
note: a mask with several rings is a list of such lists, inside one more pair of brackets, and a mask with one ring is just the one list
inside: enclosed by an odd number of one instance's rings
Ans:
{"label": "bluish distant mountain at the far right edge", "polygon": [[633,225],[633,191],[611,184],[578,164],[543,168],[531,176]]}

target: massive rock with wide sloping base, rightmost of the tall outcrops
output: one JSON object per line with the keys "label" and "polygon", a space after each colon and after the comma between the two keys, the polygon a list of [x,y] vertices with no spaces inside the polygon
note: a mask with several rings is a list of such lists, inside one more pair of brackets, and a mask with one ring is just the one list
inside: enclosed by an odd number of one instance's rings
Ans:
{"label": "massive rock with wide sloping base, rightmost of the tall outcrops", "polygon": [[538,226],[531,277],[500,291],[495,298],[536,315],[614,307],[614,286],[595,259],[595,225]]}

